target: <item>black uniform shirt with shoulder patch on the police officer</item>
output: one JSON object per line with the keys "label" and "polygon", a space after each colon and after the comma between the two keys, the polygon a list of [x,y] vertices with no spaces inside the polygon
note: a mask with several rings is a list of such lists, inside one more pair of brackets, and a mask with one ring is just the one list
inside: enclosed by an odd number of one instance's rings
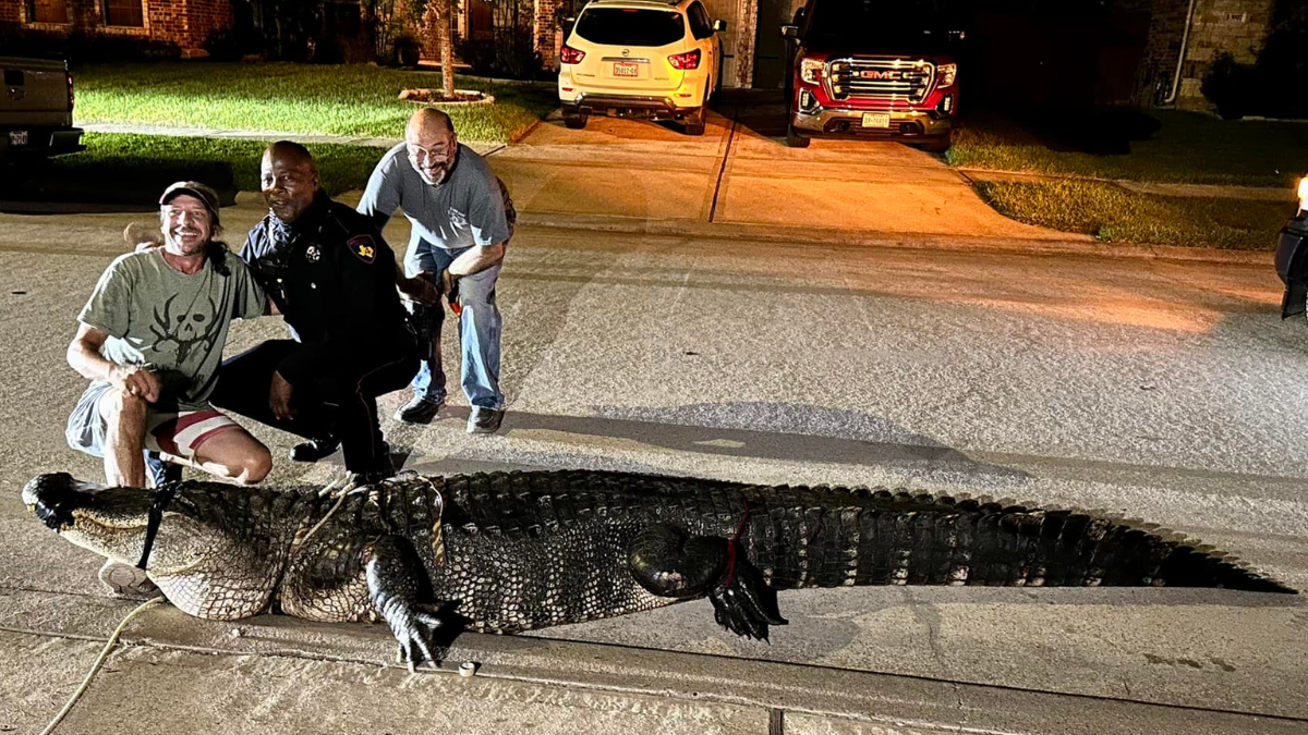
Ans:
{"label": "black uniform shirt with shoulder patch on the police officer", "polygon": [[394,354],[412,341],[395,290],[395,254],[366,217],[319,191],[294,222],[271,212],[241,258],[305,345],[279,366],[294,385],[339,350]]}

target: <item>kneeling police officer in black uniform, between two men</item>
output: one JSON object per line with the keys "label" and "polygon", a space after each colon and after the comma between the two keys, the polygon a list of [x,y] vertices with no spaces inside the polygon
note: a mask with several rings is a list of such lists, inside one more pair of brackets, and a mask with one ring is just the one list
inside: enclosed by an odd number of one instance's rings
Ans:
{"label": "kneeling police officer in black uniform, between two men", "polygon": [[213,403],[306,439],[290,451],[317,462],[344,449],[360,481],[394,475],[377,396],[417,371],[417,344],[395,290],[395,255],[366,217],[332,201],[305,146],[263,153],[268,214],[241,258],[290,326],[222,364]]}

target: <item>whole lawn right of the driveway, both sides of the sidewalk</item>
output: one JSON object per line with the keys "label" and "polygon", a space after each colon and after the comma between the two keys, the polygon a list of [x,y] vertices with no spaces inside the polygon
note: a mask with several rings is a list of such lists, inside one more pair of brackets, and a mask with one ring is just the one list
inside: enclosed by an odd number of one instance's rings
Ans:
{"label": "whole lawn right of the driveway, both sides of the sidewalk", "polygon": [[1110,109],[1025,122],[978,111],[963,118],[946,161],[955,167],[1073,177],[976,184],[995,211],[1022,222],[1105,242],[1269,250],[1292,214],[1290,203],[1133,194],[1110,180],[1288,192],[1308,171],[1308,124],[1222,120],[1176,110]]}

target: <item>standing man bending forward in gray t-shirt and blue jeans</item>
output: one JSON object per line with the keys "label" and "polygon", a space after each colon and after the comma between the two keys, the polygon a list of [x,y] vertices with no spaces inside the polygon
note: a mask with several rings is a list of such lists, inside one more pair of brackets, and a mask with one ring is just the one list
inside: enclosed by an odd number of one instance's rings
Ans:
{"label": "standing man bending forward in gray t-shirt and blue jeans", "polygon": [[[395,417],[426,424],[445,403],[439,307],[445,296],[459,314],[463,392],[472,407],[468,433],[493,433],[504,417],[494,286],[515,218],[509,194],[490,166],[459,144],[449,115],[424,109],[409,118],[404,143],[373,170],[358,203],[378,231],[396,208],[412,224],[399,286],[411,302],[419,302],[415,316],[428,320],[424,331],[433,336],[413,378],[413,399]],[[433,288],[433,281],[439,285]]]}

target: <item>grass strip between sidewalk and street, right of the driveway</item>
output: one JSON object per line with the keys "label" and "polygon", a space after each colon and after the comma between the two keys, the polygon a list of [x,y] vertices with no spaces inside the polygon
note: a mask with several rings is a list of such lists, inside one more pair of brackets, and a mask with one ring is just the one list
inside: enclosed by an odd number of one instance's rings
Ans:
{"label": "grass strip between sidewalk and street, right of the driveway", "polygon": [[1294,204],[1133,194],[1104,182],[978,182],[1001,214],[1105,242],[1270,250]]}

